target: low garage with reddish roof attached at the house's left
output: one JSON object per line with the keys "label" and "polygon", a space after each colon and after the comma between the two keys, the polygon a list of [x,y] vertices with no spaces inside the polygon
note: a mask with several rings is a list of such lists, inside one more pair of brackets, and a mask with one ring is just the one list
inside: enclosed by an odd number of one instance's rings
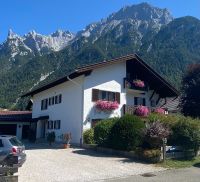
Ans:
{"label": "low garage with reddish roof attached at the house's left", "polygon": [[0,111],[0,134],[28,139],[31,121],[30,111]]}

